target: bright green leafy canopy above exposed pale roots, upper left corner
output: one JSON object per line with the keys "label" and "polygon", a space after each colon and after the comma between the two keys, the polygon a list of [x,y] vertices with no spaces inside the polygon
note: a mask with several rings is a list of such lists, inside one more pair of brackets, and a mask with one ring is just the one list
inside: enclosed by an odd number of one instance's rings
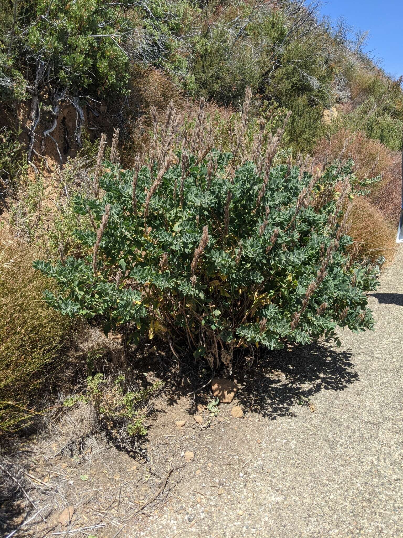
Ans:
{"label": "bright green leafy canopy above exposed pale roots, upper left corner", "polygon": [[[10,16],[4,24],[3,49],[10,47]],[[43,88],[72,95],[125,91],[128,59],[120,43],[129,28],[120,6],[99,0],[18,3],[10,54],[0,56],[10,98],[25,85],[34,95]]]}

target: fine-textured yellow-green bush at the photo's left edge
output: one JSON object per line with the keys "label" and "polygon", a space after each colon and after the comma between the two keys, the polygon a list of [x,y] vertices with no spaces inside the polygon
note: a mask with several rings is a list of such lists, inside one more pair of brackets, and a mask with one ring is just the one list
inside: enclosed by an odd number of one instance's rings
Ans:
{"label": "fine-textured yellow-green bush at the photo's left edge", "polygon": [[29,423],[60,360],[70,320],[42,300],[49,281],[32,268],[32,247],[0,230],[0,433]]}

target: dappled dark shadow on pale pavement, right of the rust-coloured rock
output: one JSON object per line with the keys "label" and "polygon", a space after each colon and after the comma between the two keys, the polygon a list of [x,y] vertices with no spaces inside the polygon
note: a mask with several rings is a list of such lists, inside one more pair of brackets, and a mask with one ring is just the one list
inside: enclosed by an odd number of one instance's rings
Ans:
{"label": "dappled dark shadow on pale pavement, right of the rust-coloured rock", "polygon": [[292,410],[296,404],[309,407],[316,393],[343,391],[359,380],[352,357],[323,343],[272,352],[248,372],[248,385],[238,399],[244,409],[272,420],[296,416]]}

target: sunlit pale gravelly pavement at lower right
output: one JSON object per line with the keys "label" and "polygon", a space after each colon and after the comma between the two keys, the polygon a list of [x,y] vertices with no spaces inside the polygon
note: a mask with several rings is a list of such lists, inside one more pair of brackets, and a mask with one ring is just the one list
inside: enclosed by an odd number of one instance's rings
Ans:
{"label": "sunlit pale gravelly pavement at lower right", "polygon": [[221,405],[224,421],[197,439],[171,433],[171,448],[195,457],[171,501],[128,535],[403,536],[402,249],[370,306],[375,332],[276,357],[260,413],[233,419]]}

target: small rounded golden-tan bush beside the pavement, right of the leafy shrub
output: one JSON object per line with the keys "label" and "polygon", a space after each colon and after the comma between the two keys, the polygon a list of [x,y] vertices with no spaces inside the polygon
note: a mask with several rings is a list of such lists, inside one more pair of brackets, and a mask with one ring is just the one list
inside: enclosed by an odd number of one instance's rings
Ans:
{"label": "small rounded golden-tan bush beside the pavement, right of the leafy shrub", "polygon": [[375,263],[380,256],[391,261],[396,250],[396,229],[370,200],[358,197],[352,204],[349,235],[359,245],[361,256]]}

